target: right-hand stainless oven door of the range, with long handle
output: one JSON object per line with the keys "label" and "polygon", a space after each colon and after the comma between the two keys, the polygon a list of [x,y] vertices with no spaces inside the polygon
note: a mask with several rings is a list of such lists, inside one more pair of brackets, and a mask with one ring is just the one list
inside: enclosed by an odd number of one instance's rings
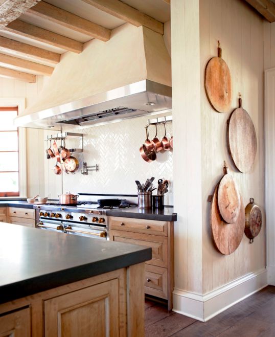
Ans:
{"label": "right-hand stainless oven door of the range, with long handle", "polygon": [[105,227],[83,225],[75,222],[63,222],[63,225],[64,232],[67,234],[106,240],[107,235]]}

